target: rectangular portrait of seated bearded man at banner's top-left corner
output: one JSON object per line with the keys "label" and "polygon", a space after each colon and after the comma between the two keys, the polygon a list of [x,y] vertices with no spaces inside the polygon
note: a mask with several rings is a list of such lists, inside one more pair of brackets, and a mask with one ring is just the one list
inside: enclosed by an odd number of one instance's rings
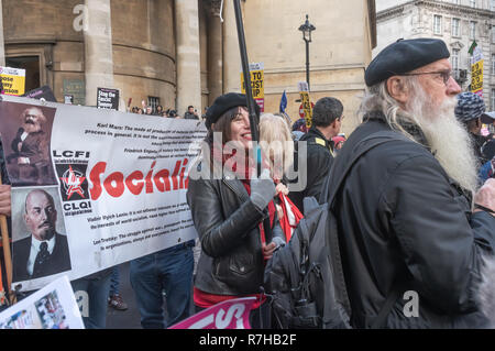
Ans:
{"label": "rectangular portrait of seated bearded man at banner's top-left corner", "polygon": [[55,112],[43,106],[0,103],[0,134],[12,185],[57,184],[50,154]]}

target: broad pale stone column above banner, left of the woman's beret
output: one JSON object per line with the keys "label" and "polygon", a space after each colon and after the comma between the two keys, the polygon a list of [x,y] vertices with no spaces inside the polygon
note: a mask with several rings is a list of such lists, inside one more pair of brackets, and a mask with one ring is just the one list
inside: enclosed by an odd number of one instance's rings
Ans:
{"label": "broad pale stone column above banner, left of the woman's beret", "polygon": [[193,105],[201,114],[201,62],[199,57],[198,0],[175,0],[177,112]]}

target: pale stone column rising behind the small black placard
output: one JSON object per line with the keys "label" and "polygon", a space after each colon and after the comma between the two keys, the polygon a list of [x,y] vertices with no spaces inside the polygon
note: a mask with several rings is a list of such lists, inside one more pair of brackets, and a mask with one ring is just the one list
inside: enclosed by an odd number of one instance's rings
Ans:
{"label": "pale stone column rising behind the small black placard", "polygon": [[110,0],[85,0],[86,105],[97,105],[97,88],[113,88]]}

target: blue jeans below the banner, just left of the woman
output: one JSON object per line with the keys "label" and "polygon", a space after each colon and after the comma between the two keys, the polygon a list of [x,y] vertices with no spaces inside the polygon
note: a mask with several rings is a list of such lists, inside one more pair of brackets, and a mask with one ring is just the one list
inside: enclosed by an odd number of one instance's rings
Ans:
{"label": "blue jeans below the banner, just left of the woman", "polygon": [[[189,317],[194,241],[131,261],[130,278],[144,329],[163,329]],[[168,318],[164,320],[163,290]]]}

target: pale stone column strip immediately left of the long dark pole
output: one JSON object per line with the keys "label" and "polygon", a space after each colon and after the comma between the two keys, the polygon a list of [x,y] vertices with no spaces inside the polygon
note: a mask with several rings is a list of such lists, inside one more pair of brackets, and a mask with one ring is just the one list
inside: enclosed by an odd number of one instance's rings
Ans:
{"label": "pale stone column strip immediately left of the long dark pole", "polygon": [[241,92],[241,54],[233,1],[223,1],[223,92]]}

